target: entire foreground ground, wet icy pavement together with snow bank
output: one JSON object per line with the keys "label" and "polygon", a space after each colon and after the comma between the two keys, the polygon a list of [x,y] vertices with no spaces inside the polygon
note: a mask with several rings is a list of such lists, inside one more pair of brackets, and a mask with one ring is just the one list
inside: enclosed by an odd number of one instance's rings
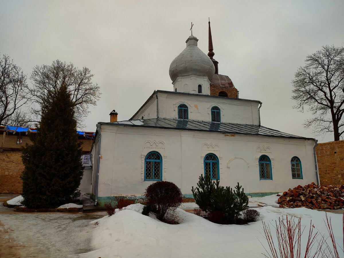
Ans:
{"label": "entire foreground ground, wet icy pavement together with snow bank", "polygon": [[[141,204],[130,205],[111,217],[105,212],[19,213],[2,206],[1,202],[10,196],[0,195],[0,257],[264,257],[259,241],[268,246],[260,233],[261,221],[274,222],[286,215],[302,218],[301,224],[306,226],[304,244],[311,220],[328,235],[325,212],[266,206],[277,206],[277,198],[250,198],[249,206],[258,206],[261,216],[260,221],[247,225],[218,225],[182,209],[176,210],[181,224],[169,225],[154,215],[142,215]],[[195,203],[182,205],[189,210],[195,207]],[[342,215],[327,214],[343,248]],[[341,250],[340,255],[343,257]]]}

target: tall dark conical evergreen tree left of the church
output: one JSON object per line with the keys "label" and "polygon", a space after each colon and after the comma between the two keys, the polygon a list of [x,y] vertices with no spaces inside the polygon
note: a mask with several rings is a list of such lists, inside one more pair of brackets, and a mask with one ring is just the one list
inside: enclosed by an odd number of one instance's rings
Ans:
{"label": "tall dark conical evergreen tree left of the church", "polygon": [[75,197],[83,176],[81,143],[76,133],[74,105],[66,86],[47,96],[32,144],[23,148],[23,204],[56,208]]}

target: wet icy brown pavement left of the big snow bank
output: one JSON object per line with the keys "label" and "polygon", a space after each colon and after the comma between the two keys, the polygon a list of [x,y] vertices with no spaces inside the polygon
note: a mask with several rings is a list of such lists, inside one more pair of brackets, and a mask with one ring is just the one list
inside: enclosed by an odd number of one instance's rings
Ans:
{"label": "wet icy brown pavement left of the big snow bank", "polygon": [[78,257],[92,250],[95,213],[21,213],[3,206],[18,194],[0,194],[1,257]]}

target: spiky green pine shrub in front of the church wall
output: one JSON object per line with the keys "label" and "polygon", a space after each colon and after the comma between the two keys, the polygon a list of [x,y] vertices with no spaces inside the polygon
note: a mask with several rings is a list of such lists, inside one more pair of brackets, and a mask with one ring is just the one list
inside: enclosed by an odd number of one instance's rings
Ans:
{"label": "spiky green pine shrub in front of the church wall", "polygon": [[[218,180],[215,183],[209,175],[205,177],[201,175],[196,189],[194,187],[191,189],[195,203],[202,211],[209,213],[209,220],[216,217],[215,221],[221,221],[219,217],[222,213],[223,223],[236,222],[240,212],[247,207],[248,197],[239,183],[234,191],[231,187],[219,186],[219,183]],[[212,212],[218,213],[210,214]]]}

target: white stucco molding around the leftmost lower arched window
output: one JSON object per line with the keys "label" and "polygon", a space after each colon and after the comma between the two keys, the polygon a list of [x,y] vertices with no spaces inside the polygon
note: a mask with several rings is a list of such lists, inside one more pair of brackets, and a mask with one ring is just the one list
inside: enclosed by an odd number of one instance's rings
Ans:
{"label": "white stucco molding around the leftmost lower arched window", "polygon": [[167,170],[167,155],[165,153],[165,143],[163,141],[144,141],[141,153],[141,181],[144,181],[144,157],[146,157],[148,152],[157,151],[160,153],[162,160],[162,177],[166,180],[166,170]]}

